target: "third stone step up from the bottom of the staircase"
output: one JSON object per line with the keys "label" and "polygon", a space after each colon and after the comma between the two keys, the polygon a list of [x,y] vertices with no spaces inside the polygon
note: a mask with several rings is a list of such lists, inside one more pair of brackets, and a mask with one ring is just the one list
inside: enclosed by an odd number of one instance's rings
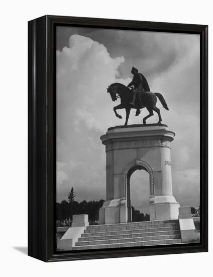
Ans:
{"label": "third stone step up from the bottom of the staircase", "polygon": [[[104,233],[105,234],[105,233]],[[144,233],[128,233],[119,235],[102,235],[102,236],[92,236],[92,237],[82,237],[79,238],[80,241],[93,241],[93,240],[108,240],[108,239],[125,239],[125,238],[136,238],[136,237],[149,237],[149,236],[160,236],[160,235],[178,235],[180,230],[176,231],[157,231],[157,232],[144,232]]]}

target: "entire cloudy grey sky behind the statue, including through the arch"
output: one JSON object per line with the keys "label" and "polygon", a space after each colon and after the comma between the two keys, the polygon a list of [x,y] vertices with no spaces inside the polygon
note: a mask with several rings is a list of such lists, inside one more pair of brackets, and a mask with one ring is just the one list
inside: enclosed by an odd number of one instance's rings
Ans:
{"label": "entire cloudy grey sky behind the statue, including through the arch", "polygon": [[[95,28],[57,27],[57,201],[73,186],[76,200],[105,199],[105,152],[100,135],[123,125],[107,87],[127,85],[135,66],[152,92],[160,92],[162,123],[176,133],[171,149],[173,194],[199,206],[199,36]],[[120,110],[124,115],[124,111]],[[129,124],[148,114],[130,114]],[[155,114],[147,123],[157,123]],[[131,177],[132,204],[148,212],[148,174]],[[143,184],[143,185],[142,185]],[[140,193],[139,193],[140,192]]]}

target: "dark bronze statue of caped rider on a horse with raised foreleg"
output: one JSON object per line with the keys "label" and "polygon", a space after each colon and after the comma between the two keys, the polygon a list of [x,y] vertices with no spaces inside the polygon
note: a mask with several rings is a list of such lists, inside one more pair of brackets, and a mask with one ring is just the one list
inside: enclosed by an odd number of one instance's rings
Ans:
{"label": "dark bronze statue of caped rider on a horse with raised foreleg", "polygon": [[121,98],[121,104],[113,108],[116,116],[122,118],[116,110],[126,109],[125,125],[127,125],[131,109],[136,109],[136,116],[138,116],[141,112],[140,109],[147,108],[149,114],[143,118],[143,124],[146,124],[147,118],[153,115],[153,111],[158,114],[158,123],[161,123],[160,109],[156,107],[157,97],[163,107],[169,110],[165,99],[160,93],[150,92],[146,78],[138,72],[137,68],[133,67],[131,73],[133,74],[133,80],[127,87],[120,83],[114,83],[107,88],[107,92],[110,93],[113,101]]}

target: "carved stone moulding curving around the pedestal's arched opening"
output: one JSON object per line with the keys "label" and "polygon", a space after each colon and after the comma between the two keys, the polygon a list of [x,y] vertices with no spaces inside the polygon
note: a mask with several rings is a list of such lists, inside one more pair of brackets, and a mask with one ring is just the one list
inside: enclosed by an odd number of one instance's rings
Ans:
{"label": "carved stone moulding curving around the pedestal's arched opening", "polygon": [[150,202],[154,199],[154,175],[152,167],[141,159],[135,159],[134,161],[127,164],[122,173],[122,197],[127,198],[127,176],[132,170],[132,173],[137,169],[144,169],[149,173],[149,184],[150,184]]}

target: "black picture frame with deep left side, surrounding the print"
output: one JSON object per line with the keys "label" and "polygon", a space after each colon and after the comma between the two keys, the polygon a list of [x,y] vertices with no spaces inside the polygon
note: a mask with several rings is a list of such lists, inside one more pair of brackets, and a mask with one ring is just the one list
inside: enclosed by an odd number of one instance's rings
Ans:
{"label": "black picture frame with deep left side, surrounding the print", "polygon": [[[200,35],[200,243],[56,252],[55,28],[58,25]],[[205,252],[208,249],[207,26],[43,16],[28,23],[28,255],[50,262]]]}

